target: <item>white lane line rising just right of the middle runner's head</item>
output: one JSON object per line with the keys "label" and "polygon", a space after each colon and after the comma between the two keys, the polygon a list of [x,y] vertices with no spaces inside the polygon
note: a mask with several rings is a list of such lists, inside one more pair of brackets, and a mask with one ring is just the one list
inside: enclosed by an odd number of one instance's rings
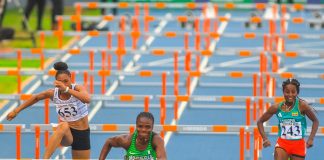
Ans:
{"label": "white lane line rising just right of the middle runner's head", "polygon": [[[231,17],[230,14],[226,14],[225,16],[227,18],[230,18]],[[228,22],[221,23],[220,24],[220,27],[219,27],[219,30],[218,30],[218,33],[222,34],[225,31],[225,28],[226,28],[227,24],[228,24]],[[209,47],[209,50],[210,51],[212,51],[212,52],[214,51],[214,49],[215,49],[216,44],[217,44],[218,41],[219,41],[219,39],[213,40],[213,42],[211,43],[211,45]],[[199,68],[200,71],[205,70],[205,68],[206,68],[206,66],[208,64],[208,60],[209,60],[209,58],[207,56],[204,57],[204,59],[201,62],[200,68]],[[192,80],[192,83],[191,83],[191,86],[190,86],[190,91],[191,91],[190,94],[193,93],[194,89],[196,88],[196,86],[198,84],[198,79],[199,78],[195,77]],[[182,115],[183,111],[185,110],[186,106],[187,106],[187,102],[181,102],[180,103],[179,110],[178,110],[178,118],[179,119],[181,118],[181,115]],[[171,122],[171,125],[176,125],[176,123],[177,123],[177,121],[175,119],[173,119],[172,122]],[[168,142],[169,142],[172,134],[173,134],[173,132],[167,132],[165,134],[165,137],[164,137],[165,144],[164,144],[164,146],[167,146],[167,144],[168,144]]]}

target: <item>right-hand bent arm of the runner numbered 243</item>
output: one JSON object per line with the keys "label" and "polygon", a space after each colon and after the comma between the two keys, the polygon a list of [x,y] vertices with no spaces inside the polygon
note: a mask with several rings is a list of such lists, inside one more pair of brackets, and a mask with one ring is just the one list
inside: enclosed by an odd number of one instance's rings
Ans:
{"label": "right-hand bent arm of the runner numbered 243", "polygon": [[313,122],[311,133],[310,133],[308,140],[306,142],[306,147],[309,148],[309,147],[313,146],[314,137],[315,137],[315,134],[316,134],[318,126],[319,126],[319,121],[313,111],[313,108],[311,106],[309,106],[306,102],[301,101],[300,112],[302,114],[305,114]]}

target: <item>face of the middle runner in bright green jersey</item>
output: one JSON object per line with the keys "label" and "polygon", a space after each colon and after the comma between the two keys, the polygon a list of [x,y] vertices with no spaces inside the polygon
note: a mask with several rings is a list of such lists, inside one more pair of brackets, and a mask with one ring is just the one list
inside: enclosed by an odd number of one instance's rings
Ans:
{"label": "face of the middle runner in bright green jersey", "polygon": [[153,130],[153,121],[147,117],[141,117],[136,122],[136,129],[139,138],[149,138]]}

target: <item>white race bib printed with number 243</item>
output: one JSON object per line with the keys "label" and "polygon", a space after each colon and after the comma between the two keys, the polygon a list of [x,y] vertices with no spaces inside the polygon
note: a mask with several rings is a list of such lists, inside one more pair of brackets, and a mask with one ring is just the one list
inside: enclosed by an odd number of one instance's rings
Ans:
{"label": "white race bib printed with number 243", "polygon": [[280,123],[281,138],[282,139],[302,139],[302,125],[301,122],[295,120],[284,120]]}

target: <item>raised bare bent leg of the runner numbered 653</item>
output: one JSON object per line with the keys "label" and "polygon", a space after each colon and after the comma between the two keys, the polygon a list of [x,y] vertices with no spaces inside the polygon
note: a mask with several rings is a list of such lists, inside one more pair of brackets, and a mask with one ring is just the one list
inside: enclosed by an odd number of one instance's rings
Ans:
{"label": "raised bare bent leg of the runner numbered 653", "polygon": [[67,122],[61,122],[56,131],[51,136],[48,146],[45,149],[44,159],[51,158],[55,149],[61,144],[62,146],[69,146],[73,142],[73,136]]}

